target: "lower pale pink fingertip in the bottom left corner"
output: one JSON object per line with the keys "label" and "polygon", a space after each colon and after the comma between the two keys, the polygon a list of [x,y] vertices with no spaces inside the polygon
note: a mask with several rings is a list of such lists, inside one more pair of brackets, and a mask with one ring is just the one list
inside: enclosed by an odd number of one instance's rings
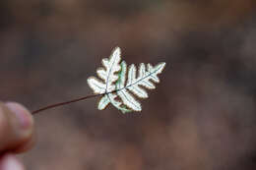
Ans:
{"label": "lower pale pink fingertip in the bottom left corner", "polygon": [[1,160],[1,170],[24,170],[22,163],[13,155],[6,155]]}

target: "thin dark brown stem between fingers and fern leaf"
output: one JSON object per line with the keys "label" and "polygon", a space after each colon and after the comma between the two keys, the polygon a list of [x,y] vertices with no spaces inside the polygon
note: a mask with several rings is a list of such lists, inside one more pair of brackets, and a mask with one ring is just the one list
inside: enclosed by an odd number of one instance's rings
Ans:
{"label": "thin dark brown stem between fingers and fern leaf", "polygon": [[[103,94],[105,94],[105,93],[103,93]],[[87,99],[87,98],[93,98],[93,97],[100,96],[100,95],[103,95],[103,94],[88,95],[88,96],[84,96],[84,97],[81,97],[81,98],[77,98],[77,99],[73,99],[73,100],[69,100],[69,101],[65,101],[65,102],[50,104],[50,105],[48,105],[48,106],[45,106],[45,107],[42,107],[42,108],[40,108],[40,109],[37,109],[37,110],[32,111],[32,115],[34,115],[34,114],[36,114],[36,113],[38,113],[38,112],[41,112],[41,111],[43,111],[43,110],[47,110],[47,109],[53,108],[53,107],[58,107],[58,106],[70,104],[70,103],[73,103],[73,102],[85,100],[85,99]]]}

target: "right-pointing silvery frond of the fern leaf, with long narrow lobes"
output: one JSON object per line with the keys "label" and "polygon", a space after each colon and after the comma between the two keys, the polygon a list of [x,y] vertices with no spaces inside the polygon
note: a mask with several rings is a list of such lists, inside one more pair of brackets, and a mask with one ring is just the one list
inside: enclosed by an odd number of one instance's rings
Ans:
{"label": "right-pointing silvery frond of the fern leaf, with long narrow lobes", "polygon": [[160,82],[158,74],[162,72],[164,66],[165,63],[160,63],[156,67],[152,67],[150,64],[148,64],[148,70],[146,71],[145,64],[142,63],[139,68],[139,76],[136,78],[137,69],[135,65],[132,64],[129,68],[127,84],[125,85],[127,65],[123,61],[121,63],[121,78],[116,84],[117,94],[123,101],[123,104],[130,108],[130,110],[141,111],[142,107],[140,102],[136,100],[136,98],[129,91],[139,98],[147,98],[148,93],[142,86],[149,89],[155,88],[156,86],[151,81],[156,83]]}

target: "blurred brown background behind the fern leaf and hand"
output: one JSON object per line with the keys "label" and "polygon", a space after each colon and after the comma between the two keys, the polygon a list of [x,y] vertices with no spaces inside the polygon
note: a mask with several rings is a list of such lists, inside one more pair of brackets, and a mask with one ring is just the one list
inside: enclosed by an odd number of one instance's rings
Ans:
{"label": "blurred brown background behind the fern leaf and hand", "polygon": [[35,110],[92,93],[120,46],[167,63],[141,113],[97,98],[35,115],[29,170],[256,169],[255,0],[2,0],[0,98]]}

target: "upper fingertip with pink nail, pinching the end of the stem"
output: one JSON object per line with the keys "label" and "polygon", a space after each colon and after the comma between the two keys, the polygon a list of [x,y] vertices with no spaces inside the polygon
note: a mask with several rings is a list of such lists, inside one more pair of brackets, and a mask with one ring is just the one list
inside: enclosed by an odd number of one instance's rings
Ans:
{"label": "upper fingertip with pink nail, pinching the end of the stem", "polygon": [[31,113],[21,104],[0,102],[0,152],[15,150],[32,139]]}

